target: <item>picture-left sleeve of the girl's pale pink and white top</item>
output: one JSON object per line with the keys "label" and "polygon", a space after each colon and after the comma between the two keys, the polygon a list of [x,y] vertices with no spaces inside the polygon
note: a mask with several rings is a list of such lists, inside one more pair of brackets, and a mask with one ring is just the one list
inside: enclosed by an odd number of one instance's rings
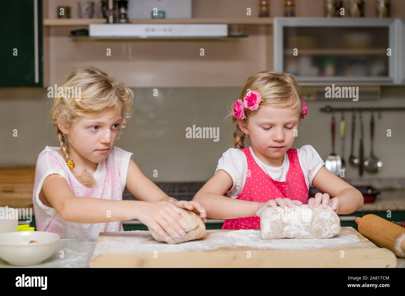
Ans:
{"label": "picture-left sleeve of the girl's pale pink and white top", "polygon": [[36,204],[48,215],[55,216],[57,214],[56,210],[53,207],[44,205],[42,201],[40,201],[39,192],[42,189],[45,179],[49,175],[58,174],[61,178],[65,178],[66,182],[69,184],[67,167],[64,167],[58,157],[51,152],[42,153],[38,156],[36,161],[35,174],[36,178],[38,178],[36,190],[33,192]]}

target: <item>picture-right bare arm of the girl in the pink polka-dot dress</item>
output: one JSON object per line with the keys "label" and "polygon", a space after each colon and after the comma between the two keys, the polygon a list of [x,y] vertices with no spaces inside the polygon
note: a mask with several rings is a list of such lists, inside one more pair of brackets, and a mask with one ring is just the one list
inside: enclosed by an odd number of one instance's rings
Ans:
{"label": "picture-right bare arm of the girl in the pink polka-dot dress", "polygon": [[[315,175],[312,184],[319,190],[327,193],[331,197],[330,201],[333,198],[338,199],[337,214],[351,214],[363,206],[364,198],[361,192],[328,171],[324,166]],[[325,199],[325,195],[323,196]],[[324,199],[319,200],[315,197],[315,203],[320,204]]]}

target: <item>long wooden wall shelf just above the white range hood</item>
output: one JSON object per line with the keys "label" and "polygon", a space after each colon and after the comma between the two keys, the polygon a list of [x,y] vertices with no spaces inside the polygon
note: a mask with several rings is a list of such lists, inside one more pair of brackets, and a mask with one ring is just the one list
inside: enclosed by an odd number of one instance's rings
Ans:
{"label": "long wooden wall shelf just above the white range hood", "polygon": [[[224,18],[207,18],[194,17],[191,19],[130,19],[131,23],[226,23],[241,25],[271,25],[271,17],[224,17]],[[44,19],[44,26],[72,26],[72,25],[89,25],[91,23],[106,23],[106,19]]]}

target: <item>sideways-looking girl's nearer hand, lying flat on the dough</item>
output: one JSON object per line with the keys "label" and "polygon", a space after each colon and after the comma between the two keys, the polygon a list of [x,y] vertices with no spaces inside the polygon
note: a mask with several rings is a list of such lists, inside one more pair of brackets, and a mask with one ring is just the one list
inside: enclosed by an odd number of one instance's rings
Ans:
{"label": "sideways-looking girl's nearer hand, lying flat on the dough", "polygon": [[179,240],[185,237],[188,226],[181,218],[179,209],[168,201],[145,202],[136,218],[158,235],[169,239],[170,235]]}

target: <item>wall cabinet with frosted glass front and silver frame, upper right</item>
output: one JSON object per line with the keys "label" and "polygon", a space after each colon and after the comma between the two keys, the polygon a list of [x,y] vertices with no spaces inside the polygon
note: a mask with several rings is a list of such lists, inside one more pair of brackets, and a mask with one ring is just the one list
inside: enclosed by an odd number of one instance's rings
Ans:
{"label": "wall cabinet with frosted glass front and silver frame, upper right", "polygon": [[404,19],[275,18],[274,68],[301,85],[404,84]]}

